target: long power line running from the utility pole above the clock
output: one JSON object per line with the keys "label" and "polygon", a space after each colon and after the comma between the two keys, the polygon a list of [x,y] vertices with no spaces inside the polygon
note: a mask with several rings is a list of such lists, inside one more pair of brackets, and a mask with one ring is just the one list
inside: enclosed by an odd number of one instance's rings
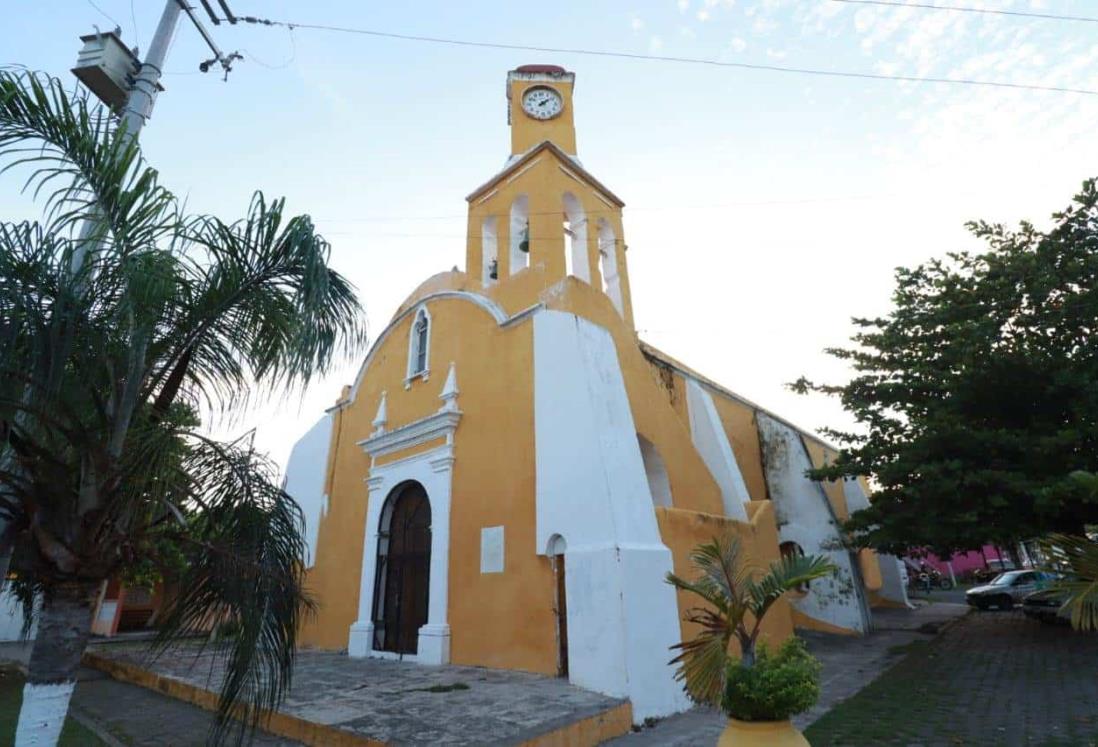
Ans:
{"label": "long power line running from the utility pole above the clock", "polygon": [[[882,0],[882,2],[884,0]],[[898,80],[898,81],[916,82],[916,83],[949,83],[953,86],[983,86],[988,88],[1010,88],[1010,89],[1020,89],[1030,91],[1054,91],[1057,93],[1084,93],[1086,96],[1098,96],[1098,90],[1091,90],[1086,88],[1064,88],[1060,86],[1011,83],[1011,82],[1001,82],[997,80],[976,80],[972,78],[935,78],[935,77],[923,77],[923,76],[885,75],[881,73],[856,73],[853,70],[821,70],[817,68],[787,67],[783,65],[731,63],[718,59],[705,59],[701,57],[675,57],[670,55],[647,55],[647,54],[630,53],[630,52],[608,52],[604,49],[579,49],[569,47],[529,46],[525,44],[503,44],[498,42],[473,42],[469,40],[446,38],[441,36],[397,34],[388,31],[376,31],[372,29],[351,29],[347,26],[332,26],[318,23],[292,23],[289,21],[271,21],[269,19],[255,18],[253,15],[238,15],[236,18],[238,21],[244,21],[246,23],[256,23],[267,26],[284,26],[288,29],[312,29],[314,31],[332,31],[344,34],[361,34],[365,36],[376,36],[381,38],[395,38],[404,42],[448,44],[450,46],[481,47],[489,49],[509,49],[518,52],[538,52],[538,53],[564,54],[564,55],[587,55],[592,57],[616,57],[620,59],[642,59],[649,62],[679,63],[685,65],[708,65],[712,67],[731,67],[743,70],[765,70],[770,73],[795,73],[800,75],[824,76],[832,78]]]}

